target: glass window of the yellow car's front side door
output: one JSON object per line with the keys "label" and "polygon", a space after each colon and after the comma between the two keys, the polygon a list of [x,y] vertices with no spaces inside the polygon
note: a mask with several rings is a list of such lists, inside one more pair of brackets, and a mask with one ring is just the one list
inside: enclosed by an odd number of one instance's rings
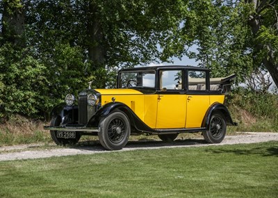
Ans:
{"label": "glass window of the yellow car's front side door", "polygon": [[181,70],[165,70],[160,73],[160,88],[166,90],[183,90],[181,79],[183,72]]}

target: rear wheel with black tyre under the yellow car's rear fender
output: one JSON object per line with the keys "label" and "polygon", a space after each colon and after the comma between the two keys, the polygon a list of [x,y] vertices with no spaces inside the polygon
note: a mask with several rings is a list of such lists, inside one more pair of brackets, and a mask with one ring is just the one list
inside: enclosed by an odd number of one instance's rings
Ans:
{"label": "rear wheel with black tyre under the yellow car's rear fender", "polygon": [[203,132],[204,140],[211,144],[220,143],[226,135],[226,130],[224,115],[220,112],[214,113],[209,121],[208,131]]}

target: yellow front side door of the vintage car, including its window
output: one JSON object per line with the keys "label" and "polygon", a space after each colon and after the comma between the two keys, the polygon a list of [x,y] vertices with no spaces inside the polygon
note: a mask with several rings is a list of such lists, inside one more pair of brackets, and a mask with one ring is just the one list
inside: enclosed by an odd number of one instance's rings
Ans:
{"label": "yellow front side door of the vintage car, including its window", "polygon": [[186,94],[181,83],[181,70],[159,72],[156,129],[179,129],[186,124]]}

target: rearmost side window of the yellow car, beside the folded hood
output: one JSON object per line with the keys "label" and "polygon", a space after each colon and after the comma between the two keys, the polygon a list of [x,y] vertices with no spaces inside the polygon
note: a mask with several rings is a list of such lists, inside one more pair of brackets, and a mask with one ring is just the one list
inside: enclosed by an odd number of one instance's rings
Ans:
{"label": "rearmost side window of the yellow car, beside the folded hood", "polygon": [[188,90],[207,90],[205,71],[188,70]]}

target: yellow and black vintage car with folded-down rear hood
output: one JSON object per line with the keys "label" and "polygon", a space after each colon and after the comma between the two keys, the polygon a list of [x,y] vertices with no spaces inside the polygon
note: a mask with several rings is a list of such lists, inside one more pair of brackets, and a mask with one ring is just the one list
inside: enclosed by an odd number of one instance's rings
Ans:
{"label": "yellow and black vintage car with folded-down rear hood", "polygon": [[130,135],[158,135],[173,141],[179,133],[202,132],[208,143],[220,143],[227,125],[236,125],[224,106],[231,79],[210,79],[209,69],[154,66],[122,69],[116,89],[67,94],[51,112],[51,138],[57,145],[75,144],[81,135],[98,135],[108,150],[122,149]]}

